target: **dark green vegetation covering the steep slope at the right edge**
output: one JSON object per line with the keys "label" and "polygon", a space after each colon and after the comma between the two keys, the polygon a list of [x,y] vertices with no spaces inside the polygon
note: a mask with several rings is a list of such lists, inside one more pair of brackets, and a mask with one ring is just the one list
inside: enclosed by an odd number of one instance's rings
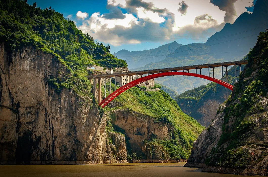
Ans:
{"label": "dark green vegetation covering the steep slope at the right edge", "polygon": [[[267,78],[268,33],[260,33],[255,47],[248,53],[248,64],[239,82],[221,110],[225,115],[223,133],[206,159],[208,165],[248,168],[267,157]],[[251,154],[256,145],[264,150]],[[267,165],[267,160],[264,163]]]}

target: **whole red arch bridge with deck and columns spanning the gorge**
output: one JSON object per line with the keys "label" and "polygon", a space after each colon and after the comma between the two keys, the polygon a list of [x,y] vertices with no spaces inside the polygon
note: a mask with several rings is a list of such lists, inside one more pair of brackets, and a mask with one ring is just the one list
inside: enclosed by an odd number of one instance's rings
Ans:
{"label": "whole red arch bridge with deck and columns spanning the gorge", "polygon": [[[210,63],[210,64],[202,64],[202,65],[191,65],[191,66],[180,66],[180,67],[173,67],[173,68],[161,68],[161,69],[150,69],[150,70],[140,70],[140,71],[131,71],[131,72],[116,72],[116,73],[107,73],[107,74],[100,74],[100,75],[93,75],[88,76],[88,79],[93,78],[93,95],[97,99],[97,79],[98,79],[98,103],[99,106],[104,108],[107,104],[109,104],[114,98],[118,95],[126,91],[127,89],[138,85],[142,82],[158,78],[158,77],[165,77],[165,76],[193,76],[193,77],[200,77],[203,79],[207,79],[226,88],[233,90],[233,85],[228,84],[228,73],[227,67],[235,65],[235,77],[237,81],[237,77],[241,72],[241,65],[247,64],[247,61],[230,61],[230,62],[221,62],[221,63]],[[237,69],[238,66],[238,69]],[[222,78],[223,75],[226,74],[226,81],[219,80],[214,78],[214,68],[221,67],[222,71]],[[203,68],[209,68],[208,76],[201,74],[201,70]],[[189,70],[195,69],[195,73],[189,72]],[[181,72],[180,72],[181,71]],[[143,76],[143,74],[147,74],[147,76]],[[211,77],[212,76],[212,77]],[[116,80],[119,80],[120,88],[116,89],[113,93],[111,93],[111,77],[115,78],[115,85],[117,83]],[[105,93],[104,99],[102,100],[101,94],[101,80],[105,78]],[[106,97],[106,78],[110,78],[110,94]]]}

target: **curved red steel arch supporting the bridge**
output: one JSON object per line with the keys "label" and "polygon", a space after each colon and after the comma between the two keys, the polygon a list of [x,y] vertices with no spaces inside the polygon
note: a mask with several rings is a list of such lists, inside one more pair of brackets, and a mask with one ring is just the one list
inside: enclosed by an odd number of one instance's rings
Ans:
{"label": "curved red steel arch supporting the bridge", "polygon": [[144,81],[150,80],[150,79],[154,79],[154,78],[158,78],[158,77],[164,77],[164,76],[193,76],[193,77],[200,77],[203,79],[207,79],[213,82],[216,82],[217,84],[220,84],[222,86],[225,86],[226,88],[233,90],[233,85],[228,84],[227,82],[224,82],[222,80],[216,79],[214,77],[209,77],[209,76],[205,76],[202,74],[196,74],[196,73],[186,73],[186,72],[164,72],[164,73],[157,73],[157,74],[151,74],[148,76],[144,76],[141,78],[138,78],[134,81],[129,82],[126,85],[123,85],[122,87],[120,87],[119,89],[117,89],[116,91],[114,91],[113,93],[111,93],[109,96],[107,96],[104,100],[102,100],[102,102],[99,104],[99,106],[101,106],[102,108],[104,108],[108,103],[110,103],[114,98],[116,98],[118,95],[120,95],[121,93],[125,92],[127,89],[140,84]]}

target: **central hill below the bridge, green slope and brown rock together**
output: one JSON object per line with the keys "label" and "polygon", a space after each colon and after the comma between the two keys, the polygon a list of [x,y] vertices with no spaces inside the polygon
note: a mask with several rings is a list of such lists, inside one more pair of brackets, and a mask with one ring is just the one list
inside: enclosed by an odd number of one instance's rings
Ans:
{"label": "central hill below the bridge, green slope and brown rock together", "polygon": [[132,87],[104,109],[110,126],[125,135],[132,162],[186,162],[204,129],[163,90]]}

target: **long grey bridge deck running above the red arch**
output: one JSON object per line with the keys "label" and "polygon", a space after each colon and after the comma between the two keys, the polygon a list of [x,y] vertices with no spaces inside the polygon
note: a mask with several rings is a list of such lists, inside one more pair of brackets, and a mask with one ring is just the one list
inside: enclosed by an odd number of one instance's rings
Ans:
{"label": "long grey bridge deck running above the red arch", "polygon": [[170,71],[181,71],[181,70],[188,70],[188,69],[196,69],[196,68],[209,68],[209,67],[219,67],[222,65],[226,66],[233,66],[236,64],[244,65],[247,64],[247,60],[241,61],[228,61],[228,62],[220,62],[220,63],[208,63],[208,64],[201,64],[201,65],[191,65],[191,66],[179,66],[173,68],[160,68],[160,69],[148,69],[148,70],[139,70],[139,71],[131,71],[131,72],[124,72],[124,73],[113,73],[113,74],[100,74],[95,76],[88,76],[88,79],[92,79],[94,77],[104,78],[104,77],[114,77],[114,76],[126,76],[126,75],[135,75],[135,74],[154,74],[160,72],[170,72]]}

